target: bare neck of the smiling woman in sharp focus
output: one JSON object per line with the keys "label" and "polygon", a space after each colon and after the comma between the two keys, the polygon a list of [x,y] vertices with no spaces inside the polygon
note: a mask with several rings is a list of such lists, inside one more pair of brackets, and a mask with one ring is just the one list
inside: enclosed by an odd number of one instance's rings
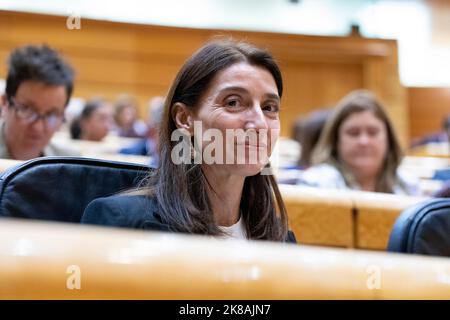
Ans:
{"label": "bare neck of the smiling woman in sharp focus", "polygon": [[219,172],[213,167],[203,169],[210,184],[207,193],[216,224],[225,227],[235,224],[240,217],[245,177]]}

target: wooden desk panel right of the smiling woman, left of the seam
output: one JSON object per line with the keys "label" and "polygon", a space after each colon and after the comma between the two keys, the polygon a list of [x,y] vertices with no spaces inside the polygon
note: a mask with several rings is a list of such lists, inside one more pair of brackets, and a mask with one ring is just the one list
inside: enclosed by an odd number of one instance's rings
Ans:
{"label": "wooden desk panel right of the smiling woman, left of the seam", "polygon": [[280,185],[297,242],[334,247],[354,246],[353,204],[348,195],[316,188]]}

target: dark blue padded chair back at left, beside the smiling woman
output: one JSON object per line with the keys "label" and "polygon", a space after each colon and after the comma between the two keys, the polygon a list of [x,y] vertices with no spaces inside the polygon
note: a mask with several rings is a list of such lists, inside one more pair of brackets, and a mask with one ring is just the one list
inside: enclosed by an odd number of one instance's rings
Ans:
{"label": "dark blue padded chair back at left, beside the smiling woman", "polygon": [[0,217],[80,222],[98,197],[138,186],[149,167],[78,157],[27,161],[0,177]]}

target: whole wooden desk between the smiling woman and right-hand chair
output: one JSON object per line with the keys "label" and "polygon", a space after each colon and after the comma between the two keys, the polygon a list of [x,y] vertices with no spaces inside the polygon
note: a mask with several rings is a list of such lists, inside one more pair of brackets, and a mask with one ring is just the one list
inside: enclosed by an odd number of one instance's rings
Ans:
{"label": "whole wooden desk between the smiling woman and right-hand chair", "polygon": [[385,250],[406,208],[425,197],[280,185],[297,241],[302,244]]}

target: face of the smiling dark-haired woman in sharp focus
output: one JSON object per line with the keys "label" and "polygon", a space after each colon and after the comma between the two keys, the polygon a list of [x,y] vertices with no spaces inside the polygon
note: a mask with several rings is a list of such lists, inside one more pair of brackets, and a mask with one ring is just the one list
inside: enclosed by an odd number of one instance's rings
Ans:
{"label": "face of the smiling dark-haired woman in sharp focus", "polygon": [[[215,75],[197,107],[193,118],[201,121],[203,135],[194,134],[202,139],[203,163],[239,176],[259,173],[280,130],[280,97],[272,74],[245,62],[231,65]],[[215,140],[217,134],[223,139]]]}

